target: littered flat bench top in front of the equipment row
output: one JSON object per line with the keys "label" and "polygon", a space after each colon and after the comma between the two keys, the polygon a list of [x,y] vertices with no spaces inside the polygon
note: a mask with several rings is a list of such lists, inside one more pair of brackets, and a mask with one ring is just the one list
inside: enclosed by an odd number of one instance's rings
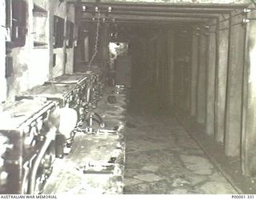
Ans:
{"label": "littered flat bench top in front of the equipment row", "polygon": [[[109,103],[109,97],[116,102]],[[104,118],[97,134],[79,132],[74,148],[54,166],[45,194],[122,194],[126,124],[126,92],[108,87],[96,109]]]}

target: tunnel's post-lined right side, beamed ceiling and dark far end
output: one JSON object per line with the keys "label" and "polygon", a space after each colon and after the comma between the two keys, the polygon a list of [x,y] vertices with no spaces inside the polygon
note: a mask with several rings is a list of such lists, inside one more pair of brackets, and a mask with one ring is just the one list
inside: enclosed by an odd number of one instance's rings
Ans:
{"label": "tunnel's post-lined right side, beamed ceiling and dark far end", "polygon": [[[130,111],[174,114],[191,134],[203,135],[194,138],[207,138],[205,149],[216,145],[222,160],[235,163],[234,179],[254,178],[254,4],[80,5],[80,31],[88,32],[81,43],[90,38],[88,54],[101,22],[98,62],[109,58],[109,42],[128,43]],[[115,70],[108,72],[114,83]]]}

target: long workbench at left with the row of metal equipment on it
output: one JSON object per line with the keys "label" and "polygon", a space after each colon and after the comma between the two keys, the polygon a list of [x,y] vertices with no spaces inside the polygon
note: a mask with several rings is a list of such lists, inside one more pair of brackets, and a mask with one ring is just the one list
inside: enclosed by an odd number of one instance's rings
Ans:
{"label": "long workbench at left with the row of metal equipment on it", "polygon": [[4,106],[0,194],[122,194],[126,90],[102,77],[62,75]]}

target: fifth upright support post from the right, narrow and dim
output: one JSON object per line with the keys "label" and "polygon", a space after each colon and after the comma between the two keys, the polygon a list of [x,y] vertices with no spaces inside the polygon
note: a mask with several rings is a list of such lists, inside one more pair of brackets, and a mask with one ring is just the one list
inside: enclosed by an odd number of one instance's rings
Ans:
{"label": "fifth upright support post from the right, narrow and dim", "polygon": [[206,122],[206,35],[201,33],[198,45],[198,123]]}

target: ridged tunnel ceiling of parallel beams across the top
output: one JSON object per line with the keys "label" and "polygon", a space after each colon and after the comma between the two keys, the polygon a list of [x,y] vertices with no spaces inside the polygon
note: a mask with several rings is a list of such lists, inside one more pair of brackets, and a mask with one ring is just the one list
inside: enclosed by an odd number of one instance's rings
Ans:
{"label": "ridged tunnel ceiling of parallel beams across the top", "polygon": [[[94,0],[70,1],[82,10],[84,24],[95,23],[100,10],[102,22],[114,29],[162,29],[168,26],[194,26],[214,22],[221,14],[244,9],[248,0]],[[98,10],[96,10],[96,7]]]}

